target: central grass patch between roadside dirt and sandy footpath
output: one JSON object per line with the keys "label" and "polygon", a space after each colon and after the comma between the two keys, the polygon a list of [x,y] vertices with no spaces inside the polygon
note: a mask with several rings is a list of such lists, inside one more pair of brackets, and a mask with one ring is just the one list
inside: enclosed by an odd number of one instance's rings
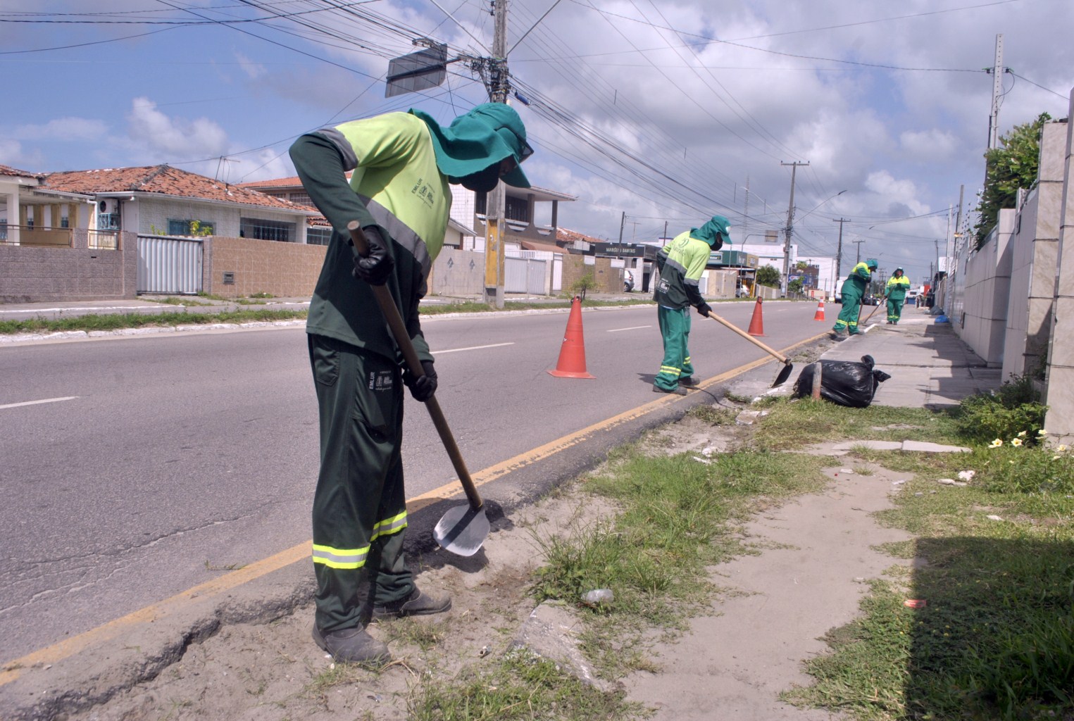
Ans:
{"label": "central grass patch between roadside dirt and sandy footpath", "polygon": [[[571,537],[537,538],[547,558],[533,586],[537,600],[587,610],[587,622],[606,634],[627,634],[620,644],[629,645],[629,633],[648,625],[682,629],[714,593],[708,566],[744,552],[738,521],[774,499],[825,484],[822,459],[740,451],[701,464],[692,457],[653,458],[632,447],[590,478],[586,490],[615,500],[622,510]],[[584,606],[582,594],[599,588],[611,589],[614,600]],[[619,667],[601,673],[614,676]]]}

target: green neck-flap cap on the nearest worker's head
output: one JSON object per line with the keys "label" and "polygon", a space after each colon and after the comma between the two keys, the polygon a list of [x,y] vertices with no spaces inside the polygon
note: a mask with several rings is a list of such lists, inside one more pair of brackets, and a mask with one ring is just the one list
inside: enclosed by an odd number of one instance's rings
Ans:
{"label": "green neck-flap cap on the nearest worker's head", "polygon": [[522,161],[534,150],[526,142],[522,118],[510,105],[483,103],[456,117],[447,128],[429,113],[411,109],[410,114],[429,126],[436,150],[436,167],[445,175],[464,177],[505,158],[514,158],[518,167],[500,179],[516,188],[529,187],[529,181],[522,172]]}

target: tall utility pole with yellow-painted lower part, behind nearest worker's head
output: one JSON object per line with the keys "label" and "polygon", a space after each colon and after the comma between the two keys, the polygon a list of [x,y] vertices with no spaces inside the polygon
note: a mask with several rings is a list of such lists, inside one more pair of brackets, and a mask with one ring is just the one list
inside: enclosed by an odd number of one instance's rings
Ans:
{"label": "tall utility pole with yellow-painted lower part, behind nearest worker's head", "polygon": [[[507,72],[507,3],[508,0],[492,0],[495,17],[495,34],[492,39],[492,59],[489,69],[489,99],[494,103],[506,103],[510,89]],[[485,196],[485,242],[484,242],[484,302],[504,307],[504,244],[506,223],[506,188],[503,182],[496,184]]]}

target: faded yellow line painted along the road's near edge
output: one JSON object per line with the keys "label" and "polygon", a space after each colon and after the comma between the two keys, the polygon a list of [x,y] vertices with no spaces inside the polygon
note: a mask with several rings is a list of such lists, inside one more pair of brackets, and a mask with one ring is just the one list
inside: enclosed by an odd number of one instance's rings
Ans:
{"label": "faded yellow line painted along the road's near edge", "polygon": [[[827,331],[788,346],[781,352],[786,355],[788,351],[794,350],[795,348],[807,343],[812,343],[813,341],[822,338],[825,335],[827,335]],[[698,388],[705,389],[710,386],[724,383],[729,378],[734,378],[737,375],[752,371],[753,369],[759,367],[765,363],[772,362],[773,360],[773,358],[766,356],[751,363],[727,371],[726,373],[713,376],[699,384]],[[618,416],[612,416],[611,418],[607,418],[603,421],[583,428],[580,431],[556,438],[550,443],[546,443],[543,446],[519,453],[514,458],[509,458],[506,461],[502,461],[500,463],[496,463],[495,465],[489,466],[488,468],[474,474],[474,484],[482,486],[506,476],[512,471],[518,471],[519,468],[524,468],[528,465],[533,465],[534,463],[538,463],[539,461],[550,458],[560,451],[567,450],[568,448],[572,448],[574,446],[587,441],[591,436],[598,432],[609,431],[618,426],[641,418],[656,408],[673,403],[682,398],[686,396],[667,395],[655,401],[650,401],[649,403],[640,405],[636,408],[621,413]],[[412,513],[438,501],[454,498],[461,492],[462,489],[458,481],[445,484],[444,486],[433,489],[432,491],[408,499],[407,508]],[[212,599],[213,596],[230,591],[231,589],[246,583],[247,581],[260,578],[261,576],[271,574],[274,571],[279,571],[284,566],[297,561],[307,560],[309,558],[309,548],[311,543],[313,540],[306,540],[305,543],[288,548],[287,550],[280,551],[279,553],[275,553],[260,561],[256,561],[255,563],[244,566],[237,571],[227,573],[219,578],[206,581],[182,593],[177,593],[170,599],[164,599],[163,601],[130,612],[127,616],[117,618],[114,621],[108,621],[107,623],[99,625],[95,629],[90,629],[89,631],[81,633],[77,636],[72,636],[71,638],[61,640],[58,644],[46,646],[45,648],[28,653],[19,659],[10,661],[4,664],[4,669],[0,670],[0,686],[10,683],[17,679],[25,668],[29,668],[37,664],[56,663],[67,659],[68,657],[74,655],[75,653],[78,653],[95,644],[111,640],[112,638],[126,633],[130,626],[139,623],[153,623],[161,621],[169,616],[177,614],[180,610],[185,610],[191,602]]]}

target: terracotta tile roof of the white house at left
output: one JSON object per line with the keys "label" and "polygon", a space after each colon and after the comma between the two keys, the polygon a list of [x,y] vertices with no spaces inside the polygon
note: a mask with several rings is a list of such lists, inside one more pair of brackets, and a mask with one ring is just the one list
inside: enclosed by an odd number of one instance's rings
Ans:
{"label": "terracotta tile roof of the white house at left", "polygon": [[168,164],[48,173],[45,176],[45,184],[49,188],[68,192],[153,192],[178,198],[261,205],[307,214],[317,212],[282,198],[274,198],[237,185],[214,181],[211,177],[189,173]]}

